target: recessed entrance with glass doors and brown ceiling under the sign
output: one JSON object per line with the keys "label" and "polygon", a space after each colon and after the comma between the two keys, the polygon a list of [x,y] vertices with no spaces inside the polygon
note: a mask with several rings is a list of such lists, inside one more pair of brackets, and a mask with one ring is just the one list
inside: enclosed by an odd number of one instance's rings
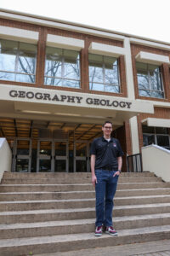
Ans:
{"label": "recessed entrance with glass doors and brown ceiling under the sign", "polygon": [[101,125],[0,118],[12,172],[90,172],[90,143],[101,135]]}

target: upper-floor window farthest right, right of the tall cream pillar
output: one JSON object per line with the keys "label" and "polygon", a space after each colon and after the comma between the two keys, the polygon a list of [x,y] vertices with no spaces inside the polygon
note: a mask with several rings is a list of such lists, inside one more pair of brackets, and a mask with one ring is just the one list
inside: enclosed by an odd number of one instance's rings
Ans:
{"label": "upper-floor window farthest right, right of the tall cream pillar", "polygon": [[137,62],[136,68],[139,96],[164,98],[160,67]]}

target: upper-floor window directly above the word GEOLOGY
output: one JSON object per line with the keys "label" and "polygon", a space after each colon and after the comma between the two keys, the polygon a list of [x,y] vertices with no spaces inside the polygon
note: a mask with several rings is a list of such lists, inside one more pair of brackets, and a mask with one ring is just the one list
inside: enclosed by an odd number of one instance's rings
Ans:
{"label": "upper-floor window directly above the word GEOLOGY", "polygon": [[120,93],[118,61],[103,55],[88,55],[90,90]]}

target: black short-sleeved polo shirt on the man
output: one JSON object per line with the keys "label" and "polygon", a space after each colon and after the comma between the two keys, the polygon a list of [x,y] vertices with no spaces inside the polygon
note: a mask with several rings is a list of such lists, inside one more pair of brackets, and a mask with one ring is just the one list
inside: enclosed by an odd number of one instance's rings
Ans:
{"label": "black short-sleeved polo shirt on the man", "polygon": [[118,170],[117,157],[122,156],[122,148],[116,138],[111,137],[111,141],[105,140],[105,137],[95,138],[90,154],[95,154],[95,169],[112,169]]}

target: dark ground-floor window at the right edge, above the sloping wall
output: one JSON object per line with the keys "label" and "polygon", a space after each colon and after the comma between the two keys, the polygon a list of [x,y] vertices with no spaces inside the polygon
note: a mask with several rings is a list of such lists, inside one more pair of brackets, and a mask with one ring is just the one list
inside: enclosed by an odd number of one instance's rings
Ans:
{"label": "dark ground-floor window at the right edge, above the sloping wall", "polygon": [[170,129],[142,125],[144,146],[156,144],[170,150]]}

